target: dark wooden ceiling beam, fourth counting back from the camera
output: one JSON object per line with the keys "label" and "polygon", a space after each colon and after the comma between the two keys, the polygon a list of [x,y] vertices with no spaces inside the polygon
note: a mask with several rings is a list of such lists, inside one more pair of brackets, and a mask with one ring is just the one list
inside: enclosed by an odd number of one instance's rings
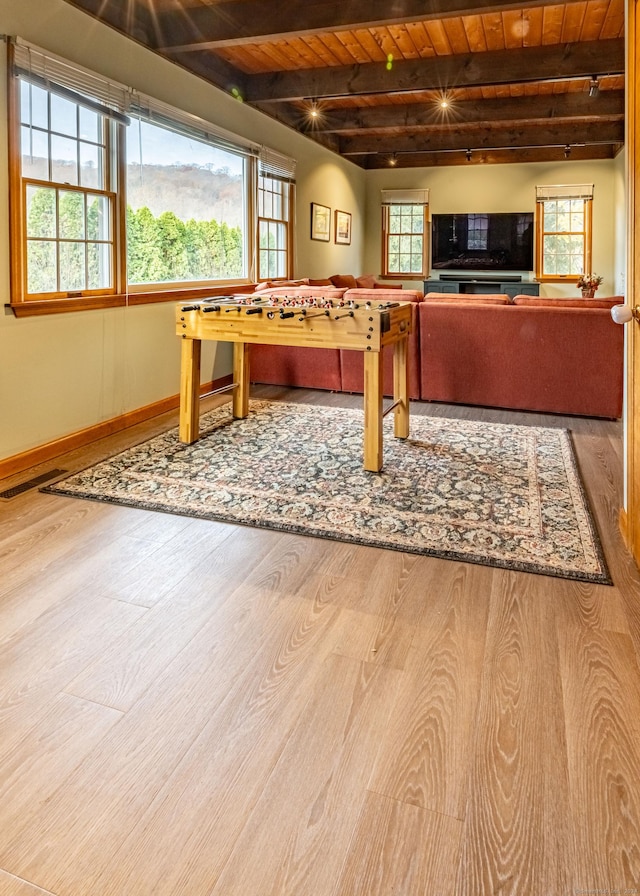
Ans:
{"label": "dark wooden ceiling beam, fourth counting back from the camera", "polygon": [[622,143],[624,122],[605,121],[597,127],[576,122],[558,124],[529,124],[499,127],[486,125],[461,131],[452,126],[449,131],[440,128],[421,131],[418,134],[397,134],[364,137],[342,137],[340,152],[353,156],[363,153],[389,152],[450,152],[451,150],[508,149],[514,146],[567,146],[577,143]]}

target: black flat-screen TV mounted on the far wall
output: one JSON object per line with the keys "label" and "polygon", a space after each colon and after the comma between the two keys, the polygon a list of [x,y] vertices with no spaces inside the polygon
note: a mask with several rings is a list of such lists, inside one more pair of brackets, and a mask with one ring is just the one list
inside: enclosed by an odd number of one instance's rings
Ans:
{"label": "black flat-screen TV mounted on the far wall", "polygon": [[532,271],[533,212],[433,215],[432,267]]}

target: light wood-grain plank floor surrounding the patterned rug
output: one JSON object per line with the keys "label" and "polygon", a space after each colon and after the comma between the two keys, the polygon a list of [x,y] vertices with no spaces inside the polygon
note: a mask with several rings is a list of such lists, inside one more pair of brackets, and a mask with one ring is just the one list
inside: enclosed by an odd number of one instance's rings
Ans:
{"label": "light wood-grain plank floor surrounding the patterned rug", "polygon": [[640,894],[621,424],[412,413],[571,429],[614,586],[0,501],[3,896]]}

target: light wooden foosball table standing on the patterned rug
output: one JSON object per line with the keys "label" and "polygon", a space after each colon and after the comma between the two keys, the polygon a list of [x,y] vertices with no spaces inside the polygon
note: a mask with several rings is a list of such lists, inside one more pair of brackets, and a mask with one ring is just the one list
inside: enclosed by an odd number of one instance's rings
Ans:
{"label": "light wooden foosball table standing on the patterned rug", "polygon": [[[344,302],[259,295],[223,296],[176,308],[182,339],[180,371],[181,442],[199,436],[200,357],[203,339],[233,343],[232,391],[235,418],[249,413],[251,344],[354,349],[364,363],[364,468],[380,472],[382,420],[394,413],[394,436],[409,435],[408,343],[410,302]],[[393,402],[383,408],[382,349],[393,345]]]}

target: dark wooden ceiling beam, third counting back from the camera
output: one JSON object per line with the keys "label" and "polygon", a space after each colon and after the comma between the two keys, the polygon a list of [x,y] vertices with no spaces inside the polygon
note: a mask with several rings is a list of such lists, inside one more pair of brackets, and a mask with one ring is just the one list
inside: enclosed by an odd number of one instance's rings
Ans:
{"label": "dark wooden ceiling beam, third counting back from the camera", "polygon": [[[277,108],[277,107],[276,107]],[[445,111],[437,98],[428,103],[366,106],[358,109],[320,108],[314,127],[323,133],[382,130],[386,128],[445,127],[491,121],[527,119],[600,119],[623,118],[624,90],[602,91],[596,97],[588,93],[550,94],[508,99],[453,101]],[[302,113],[301,113],[302,114]]]}

